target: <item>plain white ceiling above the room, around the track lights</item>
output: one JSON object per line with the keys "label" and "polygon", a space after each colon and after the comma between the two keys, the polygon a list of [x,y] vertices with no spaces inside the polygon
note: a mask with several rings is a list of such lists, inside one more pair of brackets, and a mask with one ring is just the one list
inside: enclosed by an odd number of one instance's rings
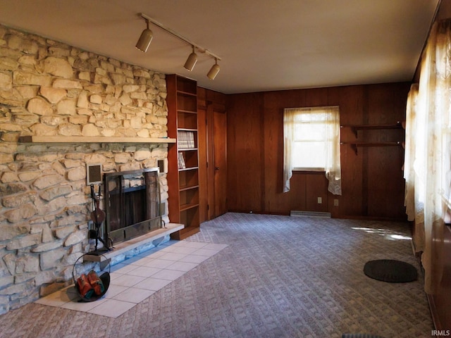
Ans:
{"label": "plain white ceiling above the room, around the track lights", "polygon": [[[410,81],[440,0],[0,0],[0,23],[226,94]],[[199,54],[144,13],[222,60]]]}

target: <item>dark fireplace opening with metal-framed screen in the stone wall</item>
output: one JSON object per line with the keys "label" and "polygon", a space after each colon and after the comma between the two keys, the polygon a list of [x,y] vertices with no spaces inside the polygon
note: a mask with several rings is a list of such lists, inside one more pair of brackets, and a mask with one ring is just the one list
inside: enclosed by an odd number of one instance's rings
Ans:
{"label": "dark fireplace opening with metal-framed screen in the stone wall", "polygon": [[104,175],[105,238],[112,244],[162,227],[159,168]]}

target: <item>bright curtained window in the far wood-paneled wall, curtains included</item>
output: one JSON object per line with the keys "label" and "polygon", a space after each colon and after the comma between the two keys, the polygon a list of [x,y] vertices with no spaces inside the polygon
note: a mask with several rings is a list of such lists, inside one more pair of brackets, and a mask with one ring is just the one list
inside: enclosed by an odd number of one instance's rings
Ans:
{"label": "bright curtained window in the far wood-paneled wall, curtains included", "polygon": [[340,111],[338,106],[286,108],[284,126],[283,191],[290,190],[293,170],[321,170],[328,190],[341,194]]}

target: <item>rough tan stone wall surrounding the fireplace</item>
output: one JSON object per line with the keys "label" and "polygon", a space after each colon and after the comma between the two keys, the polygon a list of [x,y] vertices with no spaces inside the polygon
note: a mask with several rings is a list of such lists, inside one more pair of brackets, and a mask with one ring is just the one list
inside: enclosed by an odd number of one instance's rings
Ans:
{"label": "rough tan stone wall surrounding the fireplace", "polygon": [[[0,25],[0,313],[72,282],[90,245],[86,164],[113,172],[167,161],[164,143],[107,142],[166,137],[167,113],[163,74]],[[106,142],[18,142],[25,135]],[[166,174],[160,183],[167,201]]]}

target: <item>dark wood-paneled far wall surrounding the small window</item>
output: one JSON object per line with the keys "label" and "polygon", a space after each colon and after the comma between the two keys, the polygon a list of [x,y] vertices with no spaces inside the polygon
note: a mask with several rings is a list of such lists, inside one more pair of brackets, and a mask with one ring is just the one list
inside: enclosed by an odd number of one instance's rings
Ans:
{"label": "dark wood-paneled far wall surrounding the small window", "polygon": [[[342,196],[318,173],[295,173],[283,186],[283,108],[340,106],[341,125],[386,125],[405,119],[407,82],[231,94],[228,112],[229,211],[289,214],[328,211],[333,217],[405,219],[402,146],[341,146]],[[341,130],[342,142],[396,142],[404,130]],[[318,204],[318,197],[323,203]],[[338,199],[338,206],[334,206]]]}

